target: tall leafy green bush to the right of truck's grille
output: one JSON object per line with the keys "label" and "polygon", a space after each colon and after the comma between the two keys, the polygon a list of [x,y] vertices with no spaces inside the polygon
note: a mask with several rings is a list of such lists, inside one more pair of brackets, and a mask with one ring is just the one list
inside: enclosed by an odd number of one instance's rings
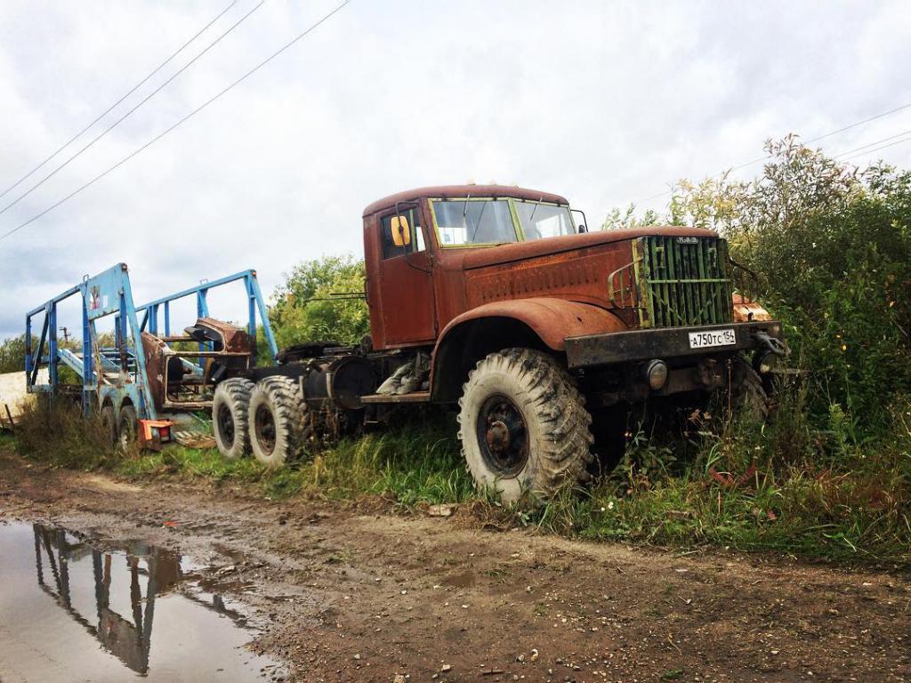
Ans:
{"label": "tall leafy green bush to the right of truck's grille", "polygon": [[[877,437],[890,428],[883,406],[911,393],[911,172],[859,171],[793,137],[766,151],[761,177],[683,180],[669,214],[648,218],[727,237],[757,276],[739,285],[784,323],[812,423],[838,406],[852,439]],[[606,226],[635,222],[615,210]]]}

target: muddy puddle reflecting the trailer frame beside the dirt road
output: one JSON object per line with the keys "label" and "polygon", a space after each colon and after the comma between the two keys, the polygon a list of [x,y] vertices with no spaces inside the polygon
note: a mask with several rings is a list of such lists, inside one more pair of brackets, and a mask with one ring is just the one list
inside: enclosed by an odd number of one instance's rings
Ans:
{"label": "muddy puddle reflecting the trailer frame beside the dirt road", "polygon": [[185,557],[139,542],[0,524],[0,681],[262,681],[236,606]]}

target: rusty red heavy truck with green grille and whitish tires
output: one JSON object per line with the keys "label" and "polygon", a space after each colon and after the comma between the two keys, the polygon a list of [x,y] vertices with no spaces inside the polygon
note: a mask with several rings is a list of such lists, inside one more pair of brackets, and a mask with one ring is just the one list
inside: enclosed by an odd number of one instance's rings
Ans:
{"label": "rusty red heavy truck with green grille and whitish tires", "polygon": [[445,186],[364,209],[363,249],[371,333],[221,382],[222,454],[281,465],[397,406],[444,404],[477,484],[540,499],[615,460],[632,407],[762,393],[783,353],[707,229],[588,231],[556,194]]}

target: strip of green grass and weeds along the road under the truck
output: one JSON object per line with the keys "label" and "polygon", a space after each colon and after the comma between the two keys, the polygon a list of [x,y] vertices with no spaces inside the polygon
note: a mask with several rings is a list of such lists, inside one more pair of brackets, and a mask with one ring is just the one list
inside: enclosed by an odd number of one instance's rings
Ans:
{"label": "strip of green grass and weeds along the road under the truck", "polygon": [[[911,411],[904,410],[907,418]],[[718,545],[909,566],[911,431],[898,428],[875,443],[855,443],[838,432],[842,422],[836,416],[829,429],[813,430],[802,420],[784,418],[757,430],[706,421],[686,440],[666,443],[638,434],[612,474],[583,489],[567,487],[533,512],[476,492],[451,418],[344,440],[279,471],[251,458],[227,461],[214,450],[115,454],[98,445],[97,424],[86,425],[63,410],[26,415],[16,448],[59,466],[103,468],[128,477],[245,484],[271,500],[374,496],[403,510],[471,503],[478,514],[505,525],[588,540]]]}

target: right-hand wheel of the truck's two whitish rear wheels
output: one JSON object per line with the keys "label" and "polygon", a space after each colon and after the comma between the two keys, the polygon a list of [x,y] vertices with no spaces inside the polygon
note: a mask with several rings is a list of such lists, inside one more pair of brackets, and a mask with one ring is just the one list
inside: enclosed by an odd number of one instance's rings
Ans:
{"label": "right-hand wheel of the truck's two whitish rear wheels", "polygon": [[310,438],[307,405],[298,383],[288,377],[267,377],[250,397],[248,421],[253,456],[269,467],[300,457]]}

